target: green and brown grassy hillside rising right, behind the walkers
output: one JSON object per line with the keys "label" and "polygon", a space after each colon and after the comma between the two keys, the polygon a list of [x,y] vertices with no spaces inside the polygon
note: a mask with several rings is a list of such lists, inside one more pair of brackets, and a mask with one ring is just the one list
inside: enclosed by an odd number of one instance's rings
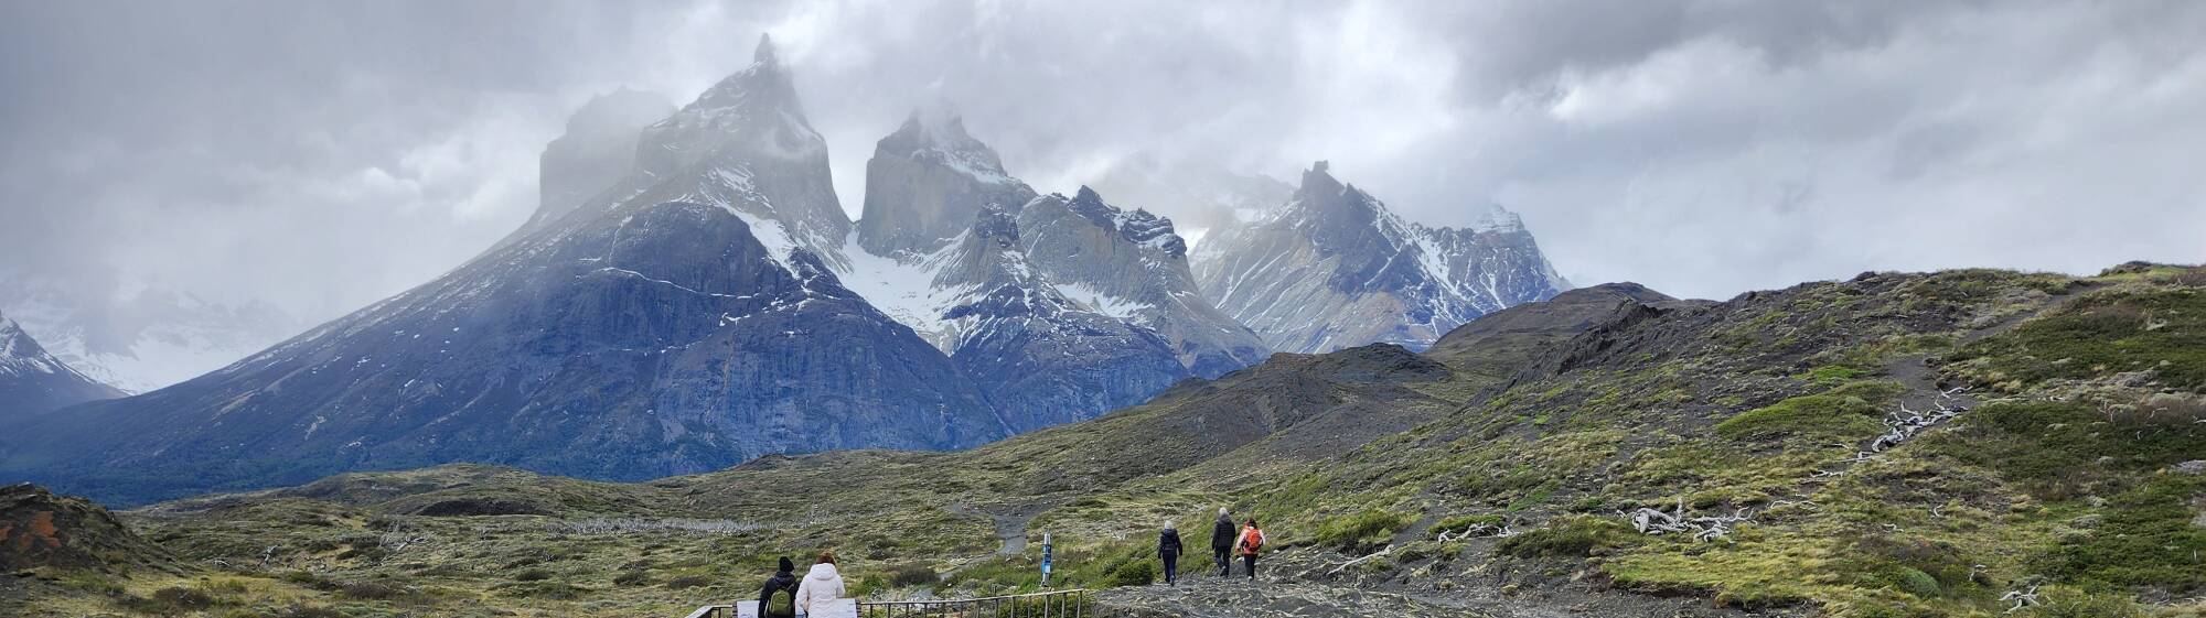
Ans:
{"label": "green and brown grassy hillside rising right, behind the walkers", "polygon": [[[18,580],[66,616],[679,616],[818,550],[871,596],[1032,589],[1041,532],[1063,580],[1134,585],[1163,521],[1200,543],[1233,505],[1266,521],[1288,614],[1383,592],[1496,616],[2197,616],[2202,338],[2206,271],[2180,267],[1727,302],[1599,287],[1425,355],[1279,355],[964,452],[651,483],[446,466],[163,503],[124,519],[188,572]],[[1913,413],[1935,422],[1880,444]],[[1643,534],[1643,508],[1738,521]],[[2010,592],[2032,600],[2007,614]],[[1105,596],[1209,616],[1189,598]]]}

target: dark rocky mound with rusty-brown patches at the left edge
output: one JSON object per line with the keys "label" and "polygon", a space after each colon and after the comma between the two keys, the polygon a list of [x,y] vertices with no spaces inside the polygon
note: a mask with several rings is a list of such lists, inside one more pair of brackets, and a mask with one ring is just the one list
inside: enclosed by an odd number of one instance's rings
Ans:
{"label": "dark rocky mound with rusty-brown patches at the left edge", "polygon": [[174,567],[174,556],[86,499],[31,483],[0,488],[0,572],[35,567],[124,572]]}

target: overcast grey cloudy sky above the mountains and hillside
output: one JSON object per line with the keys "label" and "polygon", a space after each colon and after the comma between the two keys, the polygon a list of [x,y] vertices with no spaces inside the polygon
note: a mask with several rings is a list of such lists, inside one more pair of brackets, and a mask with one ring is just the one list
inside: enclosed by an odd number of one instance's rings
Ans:
{"label": "overcast grey cloudy sky above the mountains and hillside", "polygon": [[0,0],[0,280],[329,320],[521,225],[585,99],[688,102],[759,33],[852,212],[946,104],[1046,192],[1330,159],[1582,285],[2206,260],[2206,2]]}

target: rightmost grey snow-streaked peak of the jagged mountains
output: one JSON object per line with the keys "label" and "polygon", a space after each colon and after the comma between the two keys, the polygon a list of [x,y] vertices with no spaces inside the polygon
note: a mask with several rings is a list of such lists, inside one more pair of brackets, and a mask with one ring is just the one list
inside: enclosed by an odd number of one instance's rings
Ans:
{"label": "rightmost grey snow-streaked peak of the jagged mountains", "polygon": [[1407,223],[1326,161],[1284,207],[1211,234],[1198,280],[1284,351],[1425,349],[1478,316],[1571,287],[1516,214],[1493,207],[1465,230]]}

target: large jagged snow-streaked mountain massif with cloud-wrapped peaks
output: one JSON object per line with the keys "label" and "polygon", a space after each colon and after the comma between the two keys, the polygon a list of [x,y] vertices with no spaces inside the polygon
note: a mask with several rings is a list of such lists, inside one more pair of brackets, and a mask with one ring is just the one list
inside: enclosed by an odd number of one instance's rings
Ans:
{"label": "large jagged snow-streaked mountain massif with cloud-wrapped peaks", "polygon": [[0,470],[128,503],[448,461],[635,481],[971,448],[1273,351],[1423,349],[1566,287],[1489,219],[1403,223],[1319,163],[1189,252],[1171,219],[1041,194],[964,121],[913,115],[876,143],[852,221],[761,40],[677,110],[587,104],[545,148],[538,212],[474,260],[214,373],[44,415],[51,439],[0,437]]}

